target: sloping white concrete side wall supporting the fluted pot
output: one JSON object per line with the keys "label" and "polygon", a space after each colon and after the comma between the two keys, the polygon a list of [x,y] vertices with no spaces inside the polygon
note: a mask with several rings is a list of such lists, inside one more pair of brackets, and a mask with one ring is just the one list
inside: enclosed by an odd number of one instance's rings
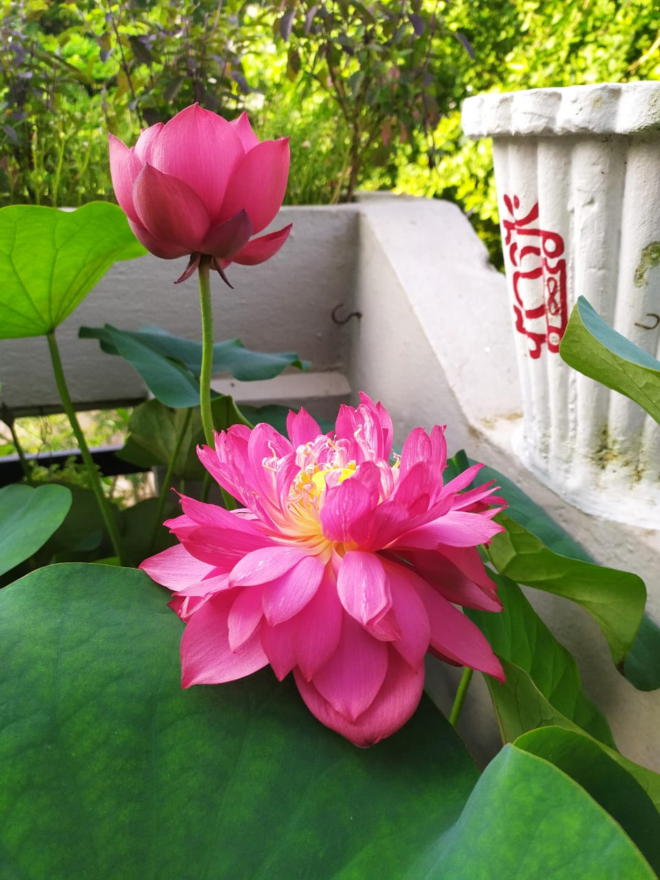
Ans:
{"label": "sloping white concrete side wall supporting the fluted pot", "polygon": [[[447,424],[465,447],[506,473],[598,561],[634,571],[660,621],[660,531],[606,522],[563,502],[511,449],[522,421],[506,282],[488,264],[465,216],[446,202],[369,199],[361,205],[361,260],[348,377],[391,409],[401,442],[416,425]],[[576,656],[583,685],[605,711],[621,752],[660,771],[660,691],[640,693],[614,669],[590,616],[527,590],[546,624]],[[430,664],[436,699],[451,706],[459,672]],[[475,686],[476,685],[476,686]],[[487,760],[498,738],[488,694],[473,678],[461,733]],[[476,737],[476,738],[475,738]]]}

